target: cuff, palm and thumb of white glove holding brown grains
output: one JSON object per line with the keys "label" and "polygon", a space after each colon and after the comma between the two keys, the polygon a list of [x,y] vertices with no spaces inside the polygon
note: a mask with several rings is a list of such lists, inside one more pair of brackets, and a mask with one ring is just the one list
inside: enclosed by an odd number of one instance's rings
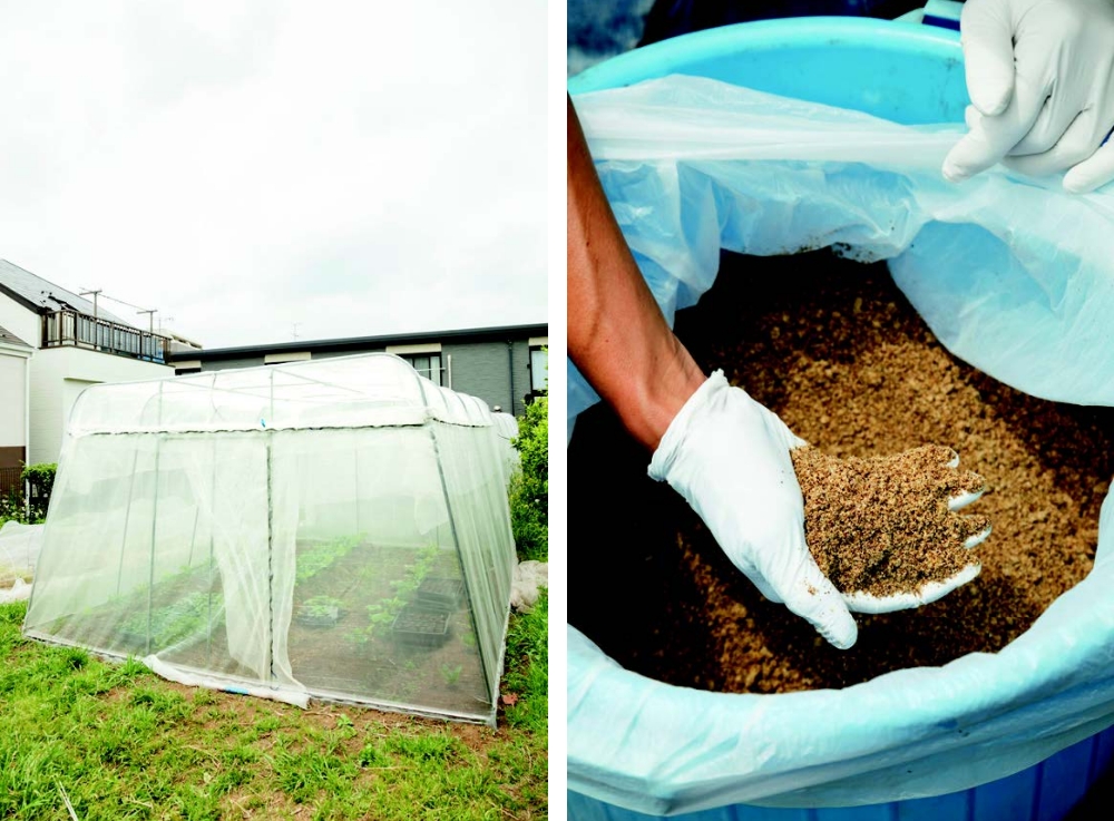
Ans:
{"label": "cuff, palm and thumb of white glove holding brown grains", "polygon": [[804,541],[804,501],[789,456],[803,444],[716,371],[670,423],[649,476],[687,500],[763,596],[847,649],[858,627]]}

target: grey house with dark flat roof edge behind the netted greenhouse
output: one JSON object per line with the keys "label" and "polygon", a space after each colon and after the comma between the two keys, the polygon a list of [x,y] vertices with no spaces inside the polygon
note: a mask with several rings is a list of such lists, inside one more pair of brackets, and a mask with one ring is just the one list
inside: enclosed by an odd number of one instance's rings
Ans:
{"label": "grey house with dark flat roof edge behind the netted greenhouse", "polygon": [[546,390],[548,334],[547,324],[504,325],[243,348],[176,346],[169,359],[176,373],[197,373],[355,353],[394,353],[437,384],[482,399],[491,410],[518,417]]}

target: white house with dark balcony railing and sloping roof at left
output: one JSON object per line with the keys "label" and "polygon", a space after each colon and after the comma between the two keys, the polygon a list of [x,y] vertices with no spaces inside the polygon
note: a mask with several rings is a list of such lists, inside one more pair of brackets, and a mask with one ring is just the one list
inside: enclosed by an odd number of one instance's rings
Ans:
{"label": "white house with dark balcony railing and sloping roof at left", "polygon": [[[0,439],[0,453],[7,452],[9,461],[17,447],[23,449],[28,463],[57,461],[70,408],[87,385],[174,373],[167,364],[167,338],[4,260],[0,260],[0,326],[33,352],[23,363],[26,432],[19,444],[7,450],[11,437],[0,433],[6,437]],[[0,375],[0,404],[4,405],[0,413],[13,413],[8,397],[14,378],[2,366],[0,374],[4,374]],[[13,423],[2,416],[0,420]]]}

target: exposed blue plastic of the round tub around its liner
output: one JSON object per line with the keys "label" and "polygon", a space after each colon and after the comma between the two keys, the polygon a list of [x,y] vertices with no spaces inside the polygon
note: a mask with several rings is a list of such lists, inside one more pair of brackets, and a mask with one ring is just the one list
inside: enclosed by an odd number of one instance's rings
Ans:
{"label": "exposed blue plastic of the round tub around its liner", "polygon": [[[575,96],[670,74],[709,77],[910,125],[961,123],[968,102],[958,33],[862,18],[772,20],[687,35],[593,67],[571,78],[568,87]],[[1089,732],[1108,723],[1100,719]],[[1114,729],[1076,741],[1079,737],[1082,734],[1053,746],[1049,758],[1008,778],[934,798],[807,809],[732,804],[674,818],[1059,821],[1106,769],[1114,753]],[[614,792],[623,790],[629,790],[629,784],[615,784]],[[577,821],[656,818],[573,790],[568,792],[567,809],[568,817]]]}

